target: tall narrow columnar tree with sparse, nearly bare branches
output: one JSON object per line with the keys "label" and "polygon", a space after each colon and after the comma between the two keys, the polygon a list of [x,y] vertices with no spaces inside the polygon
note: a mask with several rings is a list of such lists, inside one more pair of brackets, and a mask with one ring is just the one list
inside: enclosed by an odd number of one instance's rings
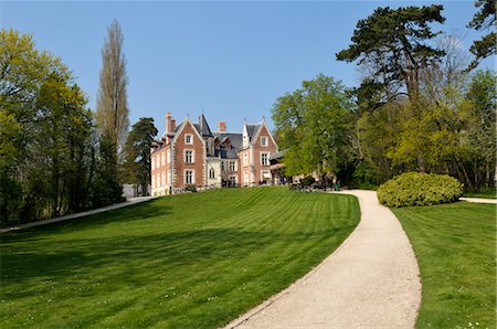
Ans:
{"label": "tall narrow columnar tree with sparse, nearly bare branches", "polygon": [[116,147],[117,159],[124,150],[129,128],[126,91],[128,77],[123,45],[124,35],[120,25],[114,20],[102,49],[96,118],[102,135],[107,135]]}

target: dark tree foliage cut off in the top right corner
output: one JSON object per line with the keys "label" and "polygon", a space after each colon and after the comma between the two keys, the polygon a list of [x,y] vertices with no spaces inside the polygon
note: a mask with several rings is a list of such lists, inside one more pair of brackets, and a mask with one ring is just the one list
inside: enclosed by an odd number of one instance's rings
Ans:
{"label": "dark tree foliage cut off in the top right corner", "polygon": [[[473,28],[476,31],[490,30],[493,26],[495,28],[497,14],[495,1],[476,0],[475,7],[479,8],[479,11],[475,13],[467,26]],[[496,54],[496,32],[491,31],[482,36],[482,39],[473,42],[469,51],[475,55],[475,60],[469,64],[468,70],[475,68],[483,59]]]}

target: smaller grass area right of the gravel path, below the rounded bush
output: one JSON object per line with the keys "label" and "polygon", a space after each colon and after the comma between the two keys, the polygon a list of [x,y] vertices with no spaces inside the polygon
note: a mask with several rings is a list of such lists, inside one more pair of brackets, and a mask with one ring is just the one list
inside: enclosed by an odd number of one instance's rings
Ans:
{"label": "smaller grass area right of the gravel path, below the rounded bush", "polygon": [[417,328],[496,328],[496,205],[392,209],[421,269]]}

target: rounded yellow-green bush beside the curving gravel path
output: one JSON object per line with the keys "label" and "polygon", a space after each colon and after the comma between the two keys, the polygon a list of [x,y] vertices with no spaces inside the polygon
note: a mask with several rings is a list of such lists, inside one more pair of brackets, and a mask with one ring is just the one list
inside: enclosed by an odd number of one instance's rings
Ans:
{"label": "rounded yellow-green bush beside the curving gravel path", "polygon": [[463,184],[446,174],[405,172],[378,189],[378,200],[387,206],[451,203],[463,194]]}

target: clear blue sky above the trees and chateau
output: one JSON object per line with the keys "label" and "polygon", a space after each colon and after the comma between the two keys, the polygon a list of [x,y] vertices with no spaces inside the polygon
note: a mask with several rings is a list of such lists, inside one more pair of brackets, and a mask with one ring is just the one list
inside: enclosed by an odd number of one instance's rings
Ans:
{"label": "clear blue sky above the trees and chateau", "polygon": [[[165,116],[192,119],[203,112],[211,129],[226,121],[271,123],[276,98],[319,73],[356,86],[355,64],[337,62],[357,21],[379,6],[444,4],[446,22],[469,47],[482,34],[466,29],[474,1],[321,2],[1,2],[2,28],[31,33],[38,49],[61,56],[95,108],[101,49],[117,19],[125,35],[130,121]],[[495,67],[495,59],[482,67]]]}

